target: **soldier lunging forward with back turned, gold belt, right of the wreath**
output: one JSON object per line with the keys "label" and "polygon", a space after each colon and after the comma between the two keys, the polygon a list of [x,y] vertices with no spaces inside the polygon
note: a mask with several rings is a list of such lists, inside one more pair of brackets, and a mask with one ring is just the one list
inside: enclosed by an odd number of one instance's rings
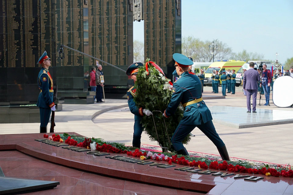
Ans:
{"label": "soldier lunging forward with back turned, gold belt, right of the wreath", "polygon": [[174,114],[179,103],[184,107],[183,118],[179,122],[171,138],[177,154],[188,155],[182,140],[195,128],[201,131],[215,144],[223,160],[229,160],[224,142],[219,137],[212,122],[212,114],[201,97],[201,80],[196,75],[188,73],[188,66],[192,63],[185,55],[173,54],[176,71],[180,75],[173,84],[173,94],[163,116],[168,118]]}

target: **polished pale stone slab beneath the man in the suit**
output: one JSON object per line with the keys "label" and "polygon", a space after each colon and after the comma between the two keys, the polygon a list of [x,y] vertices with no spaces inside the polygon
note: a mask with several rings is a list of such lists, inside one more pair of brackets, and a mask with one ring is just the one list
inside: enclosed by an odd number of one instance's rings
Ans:
{"label": "polished pale stone slab beneath the man in the suit", "polygon": [[256,108],[257,113],[247,113],[247,108],[233,106],[211,106],[209,109],[214,122],[238,129],[293,123],[293,111]]}

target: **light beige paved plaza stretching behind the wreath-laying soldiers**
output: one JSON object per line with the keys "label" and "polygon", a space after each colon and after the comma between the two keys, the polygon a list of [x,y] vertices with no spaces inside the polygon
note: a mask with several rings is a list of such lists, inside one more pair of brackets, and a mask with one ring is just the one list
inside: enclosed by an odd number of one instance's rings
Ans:
{"label": "light beige paved plaza stretching behind the wreath-laying soldiers", "polygon": [[[211,90],[212,87],[204,87],[204,95],[221,96],[213,94]],[[212,111],[216,130],[231,157],[277,164],[293,163],[292,123],[283,124],[286,121],[281,121],[293,118],[293,108],[278,108],[271,100],[271,106],[257,106],[258,113],[246,113],[246,98],[241,87],[236,88],[235,95],[228,94],[226,99],[210,99],[205,102]],[[218,110],[221,112],[216,112]],[[237,127],[237,124],[271,122],[274,119],[279,121],[277,125]],[[92,105],[63,105],[63,110],[56,112],[55,129],[56,133],[76,132],[87,137],[131,145],[133,124],[134,117],[128,109],[126,99],[106,99],[105,103]],[[0,134],[38,132],[39,123],[0,124]],[[195,137],[186,145],[188,151],[218,154],[214,144],[199,129],[195,128],[192,133]],[[158,146],[145,133],[141,142]]]}

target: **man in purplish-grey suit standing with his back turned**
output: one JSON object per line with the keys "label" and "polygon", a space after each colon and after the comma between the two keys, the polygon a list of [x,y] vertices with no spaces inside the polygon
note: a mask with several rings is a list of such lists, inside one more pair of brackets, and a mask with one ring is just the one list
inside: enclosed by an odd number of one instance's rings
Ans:
{"label": "man in purplish-grey suit standing with his back turned", "polygon": [[252,95],[252,113],[256,113],[257,82],[260,81],[260,76],[254,69],[254,62],[250,62],[249,67],[250,69],[246,70],[243,76],[243,89],[246,90],[247,112],[251,112],[250,98]]}

